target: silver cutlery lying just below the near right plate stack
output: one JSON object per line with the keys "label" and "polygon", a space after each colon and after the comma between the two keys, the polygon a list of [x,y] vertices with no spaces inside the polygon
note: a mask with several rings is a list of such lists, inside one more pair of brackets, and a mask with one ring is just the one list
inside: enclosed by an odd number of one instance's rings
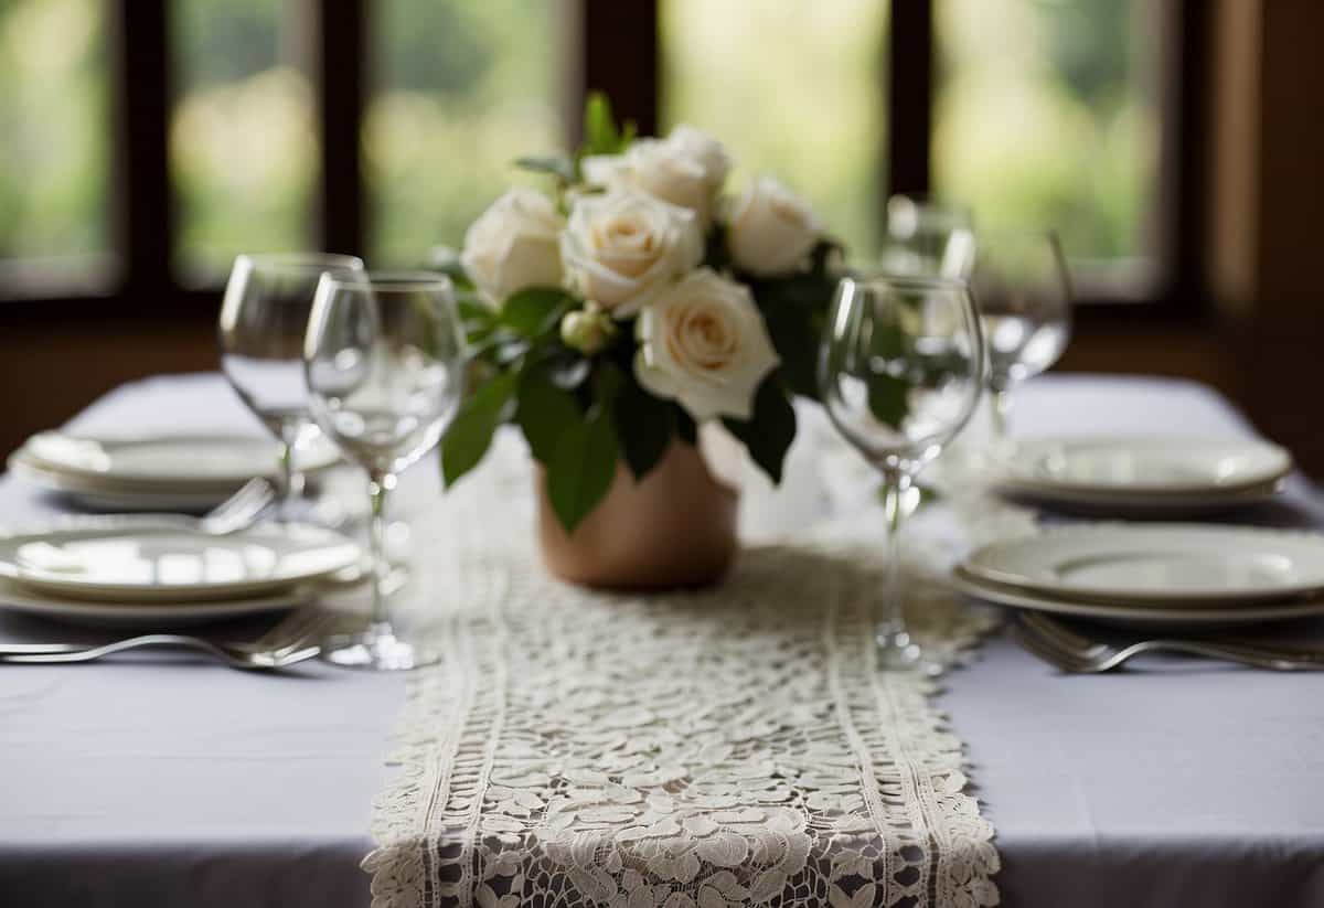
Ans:
{"label": "silver cutlery lying just below the near right plate stack", "polygon": [[1324,655],[1287,653],[1246,643],[1156,638],[1115,646],[1082,637],[1053,618],[1031,613],[1022,613],[1013,631],[1017,642],[1033,655],[1061,671],[1075,674],[1112,671],[1145,653],[1198,655],[1270,671],[1324,670]]}

